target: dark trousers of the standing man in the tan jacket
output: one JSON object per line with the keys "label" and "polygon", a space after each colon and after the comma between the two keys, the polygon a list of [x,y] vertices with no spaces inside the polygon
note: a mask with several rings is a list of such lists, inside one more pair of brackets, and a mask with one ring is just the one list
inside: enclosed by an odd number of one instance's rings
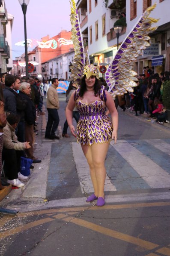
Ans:
{"label": "dark trousers of the standing man in the tan jacket", "polygon": [[45,130],[45,136],[50,137],[55,135],[55,132],[60,122],[60,118],[56,108],[47,108],[47,110],[48,110],[48,122]]}

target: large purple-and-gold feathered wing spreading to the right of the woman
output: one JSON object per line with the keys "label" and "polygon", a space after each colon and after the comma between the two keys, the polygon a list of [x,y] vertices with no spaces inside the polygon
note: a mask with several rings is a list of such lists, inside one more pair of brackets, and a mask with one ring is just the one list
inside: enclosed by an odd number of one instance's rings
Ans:
{"label": "large purple-and-gold feathered wing spreading to the right of the woman", "polygon": [[156,4],[146,9],[137,24],[122,42],[113,61],[107,68],[105,79],[109,86],[109,92],[114,97],[124,93],[133,92],[137,86],[137,73],[133,71],[134,62],[142,54],[142,50],[149,46],[149,33],[157,27],[151,27],[158,19],[149,18],[150,12]]}

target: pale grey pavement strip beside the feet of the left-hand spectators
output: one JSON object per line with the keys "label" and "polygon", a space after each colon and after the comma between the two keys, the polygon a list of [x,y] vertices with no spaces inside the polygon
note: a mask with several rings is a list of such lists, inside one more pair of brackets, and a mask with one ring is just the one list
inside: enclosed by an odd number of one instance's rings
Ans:
{"label": "pale grey pavement strip beside the feet of the left-hand spectators", "polygon": [[[22,181],[25,186],[18,189],[12,189],[12,186],[6,186],[5,189],[0,191],[0,205],[1,207],[12,206],[13,204],[20,204],[21,201],[25,201],[26,207],[30,205],[30,208],[36,204],[45,204],[46,196],[46,182],[48,167],[51,155],[51,141],[43,140],[46,127],[46,115],[40,115],[37,119],[38,122],[38,134],[35,134],[35,151],[34,156],[41,159],[41,163],[35,163],[34,169],[31,169],[30,179]],[[9,193],[10,192],[10,193]],[[27,204],[27,201],[30,201]]]}

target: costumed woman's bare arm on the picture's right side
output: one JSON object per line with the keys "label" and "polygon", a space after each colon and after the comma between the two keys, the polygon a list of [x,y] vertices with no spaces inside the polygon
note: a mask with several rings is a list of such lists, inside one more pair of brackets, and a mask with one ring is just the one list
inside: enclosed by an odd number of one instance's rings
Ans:
{"label": "costumed woman's bare arm on the picture's right side", "polygon": [[114,100],[110,93],[105,91],[106,93],[106,106],[111,114],[112,117],[112,123],[113,123],[113,133],[112,133],[112,139],[114,139],[114,142],[116,143],[117,140],[117,129],[118,129],[118,113],[116,106],[114,104]]}

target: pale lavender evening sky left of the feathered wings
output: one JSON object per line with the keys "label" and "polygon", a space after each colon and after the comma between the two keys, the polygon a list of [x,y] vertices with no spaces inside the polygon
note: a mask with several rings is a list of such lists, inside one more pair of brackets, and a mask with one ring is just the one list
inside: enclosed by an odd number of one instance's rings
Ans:
{"label": "pale lavender evening sky left of the feathered wings", "polygon": [[[8,13],[14,16],[12,59],[15,59],[24,52],[24,47],[15,46],[24,40],[24,15],[18,0],[5,0],[5,3]],[[61,29],[70,31],[70,12],[69,0],[30,0],[26,14],[27,38],[41,41],[48,34],[50,37],[59,34]]]}

